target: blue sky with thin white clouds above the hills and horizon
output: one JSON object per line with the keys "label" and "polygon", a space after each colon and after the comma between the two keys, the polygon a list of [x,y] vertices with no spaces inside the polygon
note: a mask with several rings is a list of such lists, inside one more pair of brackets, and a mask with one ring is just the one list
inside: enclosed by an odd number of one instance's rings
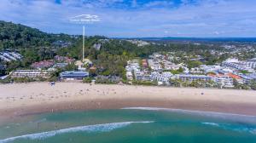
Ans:
{"label": "blue sky with thin white clouds above the hills and horizon", "polygon": [[93,14],[85,34],[107,37],[256,37],[256,0],[1,0],[0,20],[82,34],[70,21]]}

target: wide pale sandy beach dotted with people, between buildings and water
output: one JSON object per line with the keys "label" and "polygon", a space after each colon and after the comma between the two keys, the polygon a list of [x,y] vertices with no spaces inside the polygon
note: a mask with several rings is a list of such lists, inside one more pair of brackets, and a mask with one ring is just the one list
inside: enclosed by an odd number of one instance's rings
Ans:
{"label": "wide pale sandy beach dotted with people, between buildings and water", "polygon": [[162,107],[256,115],[256,92],[88,83],[0,84],[0,121],[41,112]]}

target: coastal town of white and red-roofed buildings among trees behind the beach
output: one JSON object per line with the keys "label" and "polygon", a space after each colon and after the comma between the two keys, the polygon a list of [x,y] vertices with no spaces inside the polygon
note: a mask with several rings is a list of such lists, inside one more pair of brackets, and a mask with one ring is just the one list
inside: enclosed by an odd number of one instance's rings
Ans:
{"label": "coastal town of white and red-roofed buildings among trees behind the beach", "polygon": [[[92,48],[100,50],[101,43],[93,44]],[[156,44],[143,42],[141,40],[127,40],[128,43],[137,44],[138,47]],[[67,47],[70,43],[59,43]],[[200,44],[200,43],[195,43]],[[236,55],[241,50],[234,48],[234,45],[222,45],[224,49],[232,49],[229,53]],[[247,47],[247,50],[254,50]],[[212,54],[218,51],[211,51]],[[227,52],[218,53],[219,55]],[[22,55],[14,51],[1,52],[0,58],[5,63],[13,60],[22,60]],[[189,60],[184,62],[184,60]],[[177,52],[157,52],[150,54],[147,58],[136,58],[126,60],[125,75],[123,77],[113,75],[97,75],[97,66],[89,58],[76,60],[68,56],[55,55],[53,59],[41,60],[32,63],[27,69],[16,69],[1,77],[11,81],[26,82],[32,81],[80,81],[85,83],[126,83],[143,84],[171,87],[195,87],[195,88],[218,88],[218,89],[253,89],[252,84],[256,81],[256,58],[238,60],[236,57],[229,57],[214,65],[203,64],[205,57],[200,54],[193,56],[189,54],[177,54]],[[191,66],[191,63],[195,66]],[[192,64],[193,65],[193,64]],[[1,65],[3,71],[6,66]],[[57,72],[57,74],[56,74]],[[54,76],[53,76],[54,75]],[[50,79],[50,80],[49,80]]]}

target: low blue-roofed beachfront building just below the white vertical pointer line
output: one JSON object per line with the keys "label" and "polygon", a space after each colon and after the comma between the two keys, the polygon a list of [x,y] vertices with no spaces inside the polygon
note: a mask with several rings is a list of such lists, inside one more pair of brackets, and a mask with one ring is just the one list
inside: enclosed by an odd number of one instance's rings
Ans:
{"label": "low blue-roofed beachfront building just below the white vertical pointer line", "polygon": [[83,80],[84,77],[89,77],[89,72],[72,71],[61,72],[61,80]]}

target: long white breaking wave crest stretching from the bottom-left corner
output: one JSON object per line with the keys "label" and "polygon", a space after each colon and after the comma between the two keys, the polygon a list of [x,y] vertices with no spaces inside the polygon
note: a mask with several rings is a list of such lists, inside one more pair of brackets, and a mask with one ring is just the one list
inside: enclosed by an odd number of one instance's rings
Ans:
{"label": "long white breaking wave crest stretching from the bottom-left corner", "polygon": [[79,127],[68,128],[68,129],[59,129],[59,130],[52,130],[52,131],[36,133],[36,134],[25,134],[25,135],[10,137],[7,139],[0,140],[0,143],[6,143],[14,140],[19,140],[19,139],[40,140],[40,139],[45,139],[45,138],[55,136],[56,134],[65,134],[65,133],[74,133],[74,132],[83,132],[83,131],[87,133],[109,132],[113,129],[120,129],[125,126],[128,126],[131,123],[153,123],[153,121],[104,123],[104,124],[79,126]]}

